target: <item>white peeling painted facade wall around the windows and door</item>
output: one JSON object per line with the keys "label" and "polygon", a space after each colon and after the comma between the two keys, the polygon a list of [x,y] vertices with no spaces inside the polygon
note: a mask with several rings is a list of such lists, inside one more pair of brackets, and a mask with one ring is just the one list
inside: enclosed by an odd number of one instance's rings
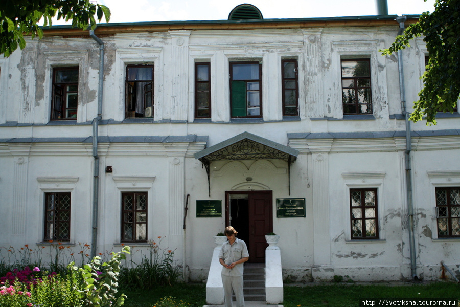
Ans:
{"label": "white peeling painted facade wall around the windows and door", "polygon": [[[281,237],[284,279],[411,279],[398,64],[396,55],[379,52],[397,34],[393,19],[98,27],[105,64],[97,253],[121,244],[121,193],[147,192],[147,238],[164,237],[163,247],[175,249],[186,278],[202,281],[208,278],[213,236],[225,227],[225,192],[265,190],[272,191],[272,229]],[[59,191],[72,195],[66,244],[91,242],[99,46],[70,28],[47,33],[53,35],[29,40],[24,50],[0,59],[0,246],[45,246],[44,193]],[[422,88],[426,53],[421,38],[403,51],[409,111]],[[370,58],[371,116],[343,116],[340,59],[356,56]],[[282,115],[282,59],[298,61],[294,118]],[[230,116],[229,62],[242,60],[262,63],[261,120]],[[210,120],[194,118],[194,63],[200,61],[211,65]],[[154,65],[153,119],[125,119],[126,65],[140,63]],[[70,65],[79,67],[77,118],[51,121],[52,70]],[[460,237],[439,238],[435,217],[435,188],[460,187],[459,123],[458,113],[440,114],[435,126],[411,123],[416,270],[425,280],[439,278],[441,262],[460,274]],[[296,160],[290,169],[282,160],[212,162],[209,189],[194,154],[245,131],[298,150]],[[351,237],[349,190],[355,188],[377,189],[376,240]],[[277,217],[276,200],[283,198],[305,198],[306,216]],[[222,217],[196,217],[197,200],[221,200]]]}

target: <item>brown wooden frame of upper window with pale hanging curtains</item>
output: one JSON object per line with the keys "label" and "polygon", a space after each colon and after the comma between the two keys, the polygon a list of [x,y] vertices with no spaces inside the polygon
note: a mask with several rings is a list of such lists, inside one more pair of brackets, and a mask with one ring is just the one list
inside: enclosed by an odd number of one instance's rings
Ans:
{"label": "brown wooden frame of upper window with pale hanging curtains", "polygon": [[[130,76],[129,76],[129,69],[131,68],[151,68],[152,69],[152,77],[151,79],[147,79],[147,78],[143,78],[143,79],[140,79],[140,80],[130,80]],[[142,104],[142,106],[137,106],[137,101],[133,101],[133,96],[134,96],[134,92],[135,93],[135,98],[137,100],[137,86],[136,86],[136,89],[134,90],[134,85],[137,84],[137,83],[149,83],[149,84],[145,84],[144,85],[144,89],[142,90],[144,92],[144,98],[142,98],[142,102],[140,102],[140,104]],[[133,84],[131,84],[133,83]],[[150,88],[148,88],[148,86],[150,85]],[[142,86],[142,85],[141,85]],[[154,114],[154,105],[155,105],[155,101],[154,101],[154,86],[155,86],[155,67],[153,64],[129,64],[129,65],[126,65],[126,75],[125,75],[125,118],[153,118],[153,114]],[[150,97],[149,97],[149,96]],[[148,99],[150,98],[150,100]],[[150,101],[151,101],[151,105],[150,105]],[[142,107],[142,111],[144,113],[141,113],[141,112],[136,112],[137,111],[137,107]],[[146,109],[151,107],[152,108],[152,111],[151,111],[151,116],[146,116]],[[139,109],[139,111],[141,111]]]}

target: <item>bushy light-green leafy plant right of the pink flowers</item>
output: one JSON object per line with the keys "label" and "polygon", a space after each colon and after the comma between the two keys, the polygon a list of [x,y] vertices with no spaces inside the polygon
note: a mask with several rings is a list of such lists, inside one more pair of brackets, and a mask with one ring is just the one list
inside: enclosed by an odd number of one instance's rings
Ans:
{"label": "bushy light-green leafy plant right of the pink flowers", "polygon": [[129,254],[129,246],[125,246],[120,252],[114,254],[108,262],[101,266],[100,257],[83,267],[75,267],[71,262],[69,268],[73,288],[78,293],[80,304],[87,306],[121,306],[126,295],[116,297],[118,292],[118,277],[120,274],[121,259]]}

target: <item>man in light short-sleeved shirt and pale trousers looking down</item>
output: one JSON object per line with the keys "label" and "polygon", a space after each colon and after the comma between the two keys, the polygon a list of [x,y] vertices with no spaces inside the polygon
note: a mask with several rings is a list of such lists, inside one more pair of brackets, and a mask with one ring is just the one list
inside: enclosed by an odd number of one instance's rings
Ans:
{"label": "man in light short-sleeved shirt and pale trousers looking down", "polygon": [[224,231],[227,242],[222,244],[219,254],[222,268],[222,283],[225,292],[225,307],[232,307],[232,290],[235,292],[237,307],[244,307],[243,262],[249,260],[246,243],[238,239],[238,232],[232,226]]}

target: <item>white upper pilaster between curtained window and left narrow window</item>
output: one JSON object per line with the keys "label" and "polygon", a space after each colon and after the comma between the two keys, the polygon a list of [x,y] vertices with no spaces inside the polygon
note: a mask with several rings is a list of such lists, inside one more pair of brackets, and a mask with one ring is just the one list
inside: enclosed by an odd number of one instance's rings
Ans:
{"label": "white upper pilaster between curtained window and left narrow window", "polygon": [[171,120],[187,120],[189,38],[192,31],[169,31],[171,44]]}

